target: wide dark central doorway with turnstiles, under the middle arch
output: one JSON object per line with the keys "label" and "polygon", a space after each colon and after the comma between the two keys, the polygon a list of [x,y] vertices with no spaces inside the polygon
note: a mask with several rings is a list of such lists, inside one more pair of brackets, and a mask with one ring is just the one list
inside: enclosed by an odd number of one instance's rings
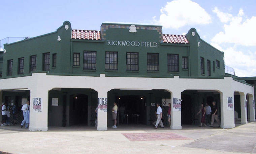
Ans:
{"label": "wide dark central doorway with turnstiles, under the middle arch", "polygon": [[[128,124],[137,124],[138,120],[139,124],[147,125],[146,97],[140,95],[126,95],[119,97],[118,100],[118,124],[127,124],[125,114],[128,114]],[[138,114],[139,116],[134,116],[134,114]]]}

